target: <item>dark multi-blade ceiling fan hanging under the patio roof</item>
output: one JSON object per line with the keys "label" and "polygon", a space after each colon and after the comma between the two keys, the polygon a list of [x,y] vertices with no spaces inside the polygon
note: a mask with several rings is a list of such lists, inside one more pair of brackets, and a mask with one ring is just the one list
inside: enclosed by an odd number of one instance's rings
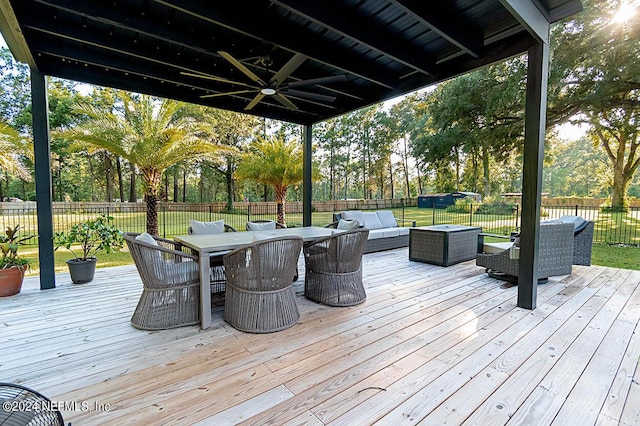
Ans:
{"label": "dark multi-blade ceiling fan hanging under the patio roof", "polygon": [[[293,55],[289,61],[284,64],[282,68],[280,68],[274,75],[269,79],[269,81],[264,81],[258,75],[256,75],[253,71],[247,68],[242,62],[234,58],[231,54],[225,51],[218,51],[218,54],[222,56],[225,60],[227,60],[231,65],[241,71],[244,75],[249,77],[253,84],[251,83],[243,83],[239,81],[233,81],[222,77],[216,77],[213,75],[205,74],[205,73],[194,73],[194,72],[181,72],[182,75],[186,75],[189,77],[197,77],[204,78],[213,81],[219,81],[222,83],[229,83],[238,86],[246,87],[246,89],[235,90],[232,92],[225,93],[213,93],[210,95],[200,96],[201,98],[215,98],[219,96],[230,96],[230,95],[239,95],[243,93],[256,93],[256,96],[249,102],[249,104],[244,108],[245,111],[251,110],[255,107],[265,96],[271,96],[275,98],[278,102],[280,102],[285,107],[290,110],[297,111],[298,107],[287,97],[287,95],[292,97],[298,97],[301,99],[309,99],[312,101],[319,102],[333,102],[336,100],[335,96],[322,95],[319,93],[311,93],[304,90],[298,90],[299,88],[304,88],[307,86],[314,86],[318,84],[329,84],[336,83],[340,81],[346,81],[346,75],[332,75],[328,77],[319,77],[312,78],[307,80],[299,80],[292,81],[287,84],[282,84],[287,77],[291,75],[302,63],[307,60],[307,57],[301,53],[296,53]],[[269,69],[272,61],[269,57],[262,58],[262,65]]]}

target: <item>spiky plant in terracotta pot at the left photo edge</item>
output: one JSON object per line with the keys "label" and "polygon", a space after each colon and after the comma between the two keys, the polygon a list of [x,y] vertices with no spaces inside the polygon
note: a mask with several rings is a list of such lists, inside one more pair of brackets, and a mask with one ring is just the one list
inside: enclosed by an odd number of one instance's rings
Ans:
{"label": "spiky plant in terracotta pot at the left photo edge", "polygon": [[29,260],[18,255],[18,248],[31,236],[18,237],[19,229],[20,225],[8,226],[5,235],[0,235],[0,297],[20,293],[24,272],[29,268]]}

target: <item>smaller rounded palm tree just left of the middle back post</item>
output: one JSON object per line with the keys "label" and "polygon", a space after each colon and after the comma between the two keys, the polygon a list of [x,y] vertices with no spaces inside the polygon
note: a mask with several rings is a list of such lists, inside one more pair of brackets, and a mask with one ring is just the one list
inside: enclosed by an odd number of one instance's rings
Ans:
{"label": "smaller rounded palm tree just left of the middle back post", "polygon": [[[270,185],[276,195],[278,222],[286,225],[284,201],[287,189],[303,179],[303,151],[297,141],[258,138],[249,146],[236,169],[240,179]],[[317,175],[317,172],[313,173]]]}

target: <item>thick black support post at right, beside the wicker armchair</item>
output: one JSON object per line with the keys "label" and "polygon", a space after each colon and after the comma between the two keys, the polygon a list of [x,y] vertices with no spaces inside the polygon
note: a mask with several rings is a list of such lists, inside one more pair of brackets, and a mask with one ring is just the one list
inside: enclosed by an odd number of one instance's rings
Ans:
{"label": "thick black support post at right, beside the wicker armchair", "polygon": [[540,42],[529,49],[522,170],[522,231],[518,306],[535,309],[538,295],[538,248],[542,162],[549,75],[549,45]]}

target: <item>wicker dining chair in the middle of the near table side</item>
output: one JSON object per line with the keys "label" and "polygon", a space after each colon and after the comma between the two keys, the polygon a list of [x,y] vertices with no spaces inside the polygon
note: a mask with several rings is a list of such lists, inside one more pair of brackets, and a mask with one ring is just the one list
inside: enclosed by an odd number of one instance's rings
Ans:
{"label": "wicker dining chair in the middle of the near table side", "polygon": [[224,257],[227,275],[224,319],[249,333],[271,333],[300,318],[291,277],[303,240],[297,236],[258,240]]}

